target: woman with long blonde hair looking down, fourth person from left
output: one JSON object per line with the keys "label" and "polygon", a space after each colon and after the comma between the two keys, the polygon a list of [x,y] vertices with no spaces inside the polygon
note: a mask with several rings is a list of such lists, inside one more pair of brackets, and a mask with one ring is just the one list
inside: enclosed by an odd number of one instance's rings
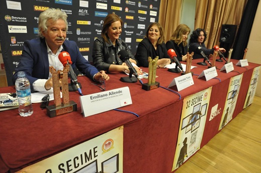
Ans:
{"label": "woman with long blonde hair looking down, fourth person from left", "polygon": [[167,50],[173,49],[179,61],[187,60],[187,39],[189,33],[190,28],[185,24],[180,24],[172,34],[170,40],[166,43]]}

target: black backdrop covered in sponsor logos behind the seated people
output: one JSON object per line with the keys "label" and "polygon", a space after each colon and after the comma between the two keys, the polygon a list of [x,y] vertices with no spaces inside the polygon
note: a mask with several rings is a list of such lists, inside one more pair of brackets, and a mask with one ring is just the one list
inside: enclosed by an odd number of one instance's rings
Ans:
{"label": "black backdrop covered in sponsor logos behind the seated people", "polygon": [[0,41],[8,85],[14,85],[12,76],[26,40],[38,37],[38,20],[48,8],[68,15],[67,40],[75,41],[82,55],[92,62],[92,46],[101,37],[104,18],[115,13],[123,20],[120,39],[135,55],[147,27],[159,20],[160,0],[14,0],[0,1]]}

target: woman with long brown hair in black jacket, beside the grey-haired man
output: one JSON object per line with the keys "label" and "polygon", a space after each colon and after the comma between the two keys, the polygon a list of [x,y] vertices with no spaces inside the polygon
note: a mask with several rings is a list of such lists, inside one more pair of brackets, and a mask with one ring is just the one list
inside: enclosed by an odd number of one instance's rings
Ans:
{"label": "woman with long brown hair in black jacket, beside the grey-haired man", "polygon": [[[115,14],[109,14],[103,23],[101,38],[96,39],[92,48],[93,64],[98,70],[107,72],[129,71],[127,65],[118,56],[120,50],[125,50],[129,61],[138,65],[138,61],[129,50],[128,45],[119,39],[123,21]],[[141,69],[135,66],[138,74]]]}

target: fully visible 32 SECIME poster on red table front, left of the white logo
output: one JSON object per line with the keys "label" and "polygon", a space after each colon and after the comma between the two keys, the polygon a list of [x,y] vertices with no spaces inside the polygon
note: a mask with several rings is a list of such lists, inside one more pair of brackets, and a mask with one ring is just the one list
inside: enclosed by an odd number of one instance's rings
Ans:
{"label": "fully visible 32 SECIME poster on red table front, left of the white logo", "polygon": [[172,171],[200,149],[211,90],[209,87],[184,98]]}

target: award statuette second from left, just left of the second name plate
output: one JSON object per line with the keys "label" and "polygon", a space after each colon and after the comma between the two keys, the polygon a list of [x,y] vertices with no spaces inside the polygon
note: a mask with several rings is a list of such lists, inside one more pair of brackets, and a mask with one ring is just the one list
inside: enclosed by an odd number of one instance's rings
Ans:
{"label": "award statuette second from left, just left of the second name plate", "polygon": [[152,60],[151,57],[148,58],[149,61],[149,74],[148,74],[148,83],[142,85],[142,89],[149,91],[152,89],[159,88],[160,83],[156,82],[156,70],[157,70],[157,61],[159,57],[156,57]]}

